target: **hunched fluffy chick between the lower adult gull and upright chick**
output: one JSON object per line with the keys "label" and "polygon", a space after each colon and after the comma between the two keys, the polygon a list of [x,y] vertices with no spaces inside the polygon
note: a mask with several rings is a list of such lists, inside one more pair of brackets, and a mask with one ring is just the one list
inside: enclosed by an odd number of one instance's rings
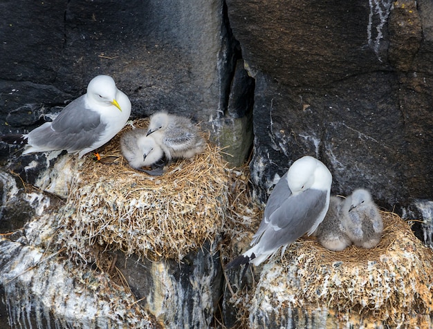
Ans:
{"label": "hunched fluffy chick between the lower adult gull and upright chick", "polygon": [[[351,239],[346,234],[346,229],[343,226],[342,216],[342,198],[331,196],[329,200],[329,209],[322,223],[317,226],[314,235],[317,241],[326,249],[335,252],[344,250],[352,244]],[[345,214],[349,216],[349,214]]]}

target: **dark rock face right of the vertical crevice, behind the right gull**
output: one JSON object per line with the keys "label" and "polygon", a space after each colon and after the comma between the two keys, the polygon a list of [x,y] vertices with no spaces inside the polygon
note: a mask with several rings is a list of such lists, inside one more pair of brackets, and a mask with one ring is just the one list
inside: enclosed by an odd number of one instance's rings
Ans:
{"label": "dark rock face right of the vertical crevice, behind the right gull", "polygon": [[305,154],[330,167],[335,194],[367,187],[388,209],[433,197],[432,4],[418,3],[228,1],[256,78],[263,200]]}

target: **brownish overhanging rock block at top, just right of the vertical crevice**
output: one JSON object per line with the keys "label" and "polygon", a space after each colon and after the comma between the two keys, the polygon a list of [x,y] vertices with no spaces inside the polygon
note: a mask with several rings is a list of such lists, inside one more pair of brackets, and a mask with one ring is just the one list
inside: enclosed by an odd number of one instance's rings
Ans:
{"label": "brownish overhanging rock block at top, just right of the vertical crevice", "polygon": [[[230,24],[252,72],[288,86],[321,87],[389,69],[390,2],[227,1]],[[356,23],[353,23],[355,22]]]}

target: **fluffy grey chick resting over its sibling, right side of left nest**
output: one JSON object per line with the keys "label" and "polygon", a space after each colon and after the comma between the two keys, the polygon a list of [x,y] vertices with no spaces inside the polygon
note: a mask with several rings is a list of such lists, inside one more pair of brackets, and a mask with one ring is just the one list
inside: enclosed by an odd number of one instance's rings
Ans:
{"label": "fluffy grey chick resting over its sibling, right side of left nest", "polygon": [[192,158],[205,150],[206,142],[190,119],[165,111],[150,116],[147,135],[160,144],[167,160]]}

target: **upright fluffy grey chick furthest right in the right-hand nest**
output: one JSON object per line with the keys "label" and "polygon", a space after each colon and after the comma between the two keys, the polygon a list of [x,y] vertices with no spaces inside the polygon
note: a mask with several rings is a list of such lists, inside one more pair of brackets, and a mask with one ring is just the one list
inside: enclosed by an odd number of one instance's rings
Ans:
{"label": "upright fluffy grey chick furthest right in the right-hand nest", "polygon": [[379,209],[366,189],[356,189],[344,200],[343,225],[357,247],[375,247],[382,238],[383,220]]}

